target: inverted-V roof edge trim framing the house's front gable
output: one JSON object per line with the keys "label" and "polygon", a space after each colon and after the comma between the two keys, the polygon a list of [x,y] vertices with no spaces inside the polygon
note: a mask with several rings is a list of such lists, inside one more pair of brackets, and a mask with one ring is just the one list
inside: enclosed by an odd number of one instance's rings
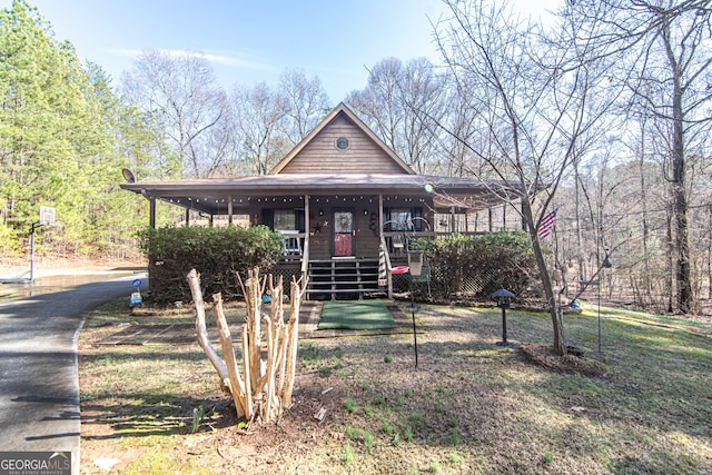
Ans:
{"label": "inverted-V roof edge trim framing the house's front gable", "polygon": [[[289,165],[294,165],[299,160],[305,152],[307,146],[309,146],[317,137],[324,135],[329,127],[333,126],[335,120],[339,117],[345,117],[359,132],[365,135],[378,149],[378,154],[382,160],[388,160],[389,167],[397,169],[399,174],[416,175],[415,171],[403,161],[383,140],[378,138],[344,102],[340,102],[328,116],[324,118],[289,154],[283,158],[270,171],[269,175],[278,175],[285,170]],[[358,170],[359,172],[369,172],[369,170]]]}

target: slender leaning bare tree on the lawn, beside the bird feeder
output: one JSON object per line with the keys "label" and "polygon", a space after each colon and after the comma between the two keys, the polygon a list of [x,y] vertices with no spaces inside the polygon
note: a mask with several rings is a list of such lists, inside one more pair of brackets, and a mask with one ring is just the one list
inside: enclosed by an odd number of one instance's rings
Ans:
{"label": "slender leaning bare tree on the lawn, beside the bird feeder", "polygon": [[[469,107],[486,125],[482,138],[462,142],[510,184],[507,198],[521,198],[517,211],[528,228],[551,309],[554,350],[563,355],[563,319],[537,231],[572,165],[594,146],[593,127],[615,97],[593,99],[600,87],[609,87],[605,65],[592,62],[591,39],[576,36],[572,17],[546,38],[536,26],[520,21],[506,3],[445,3],[452,17],[437,24],[443,58],[455,85],[475,92]],[[546,188],[540,201],[542,185]]]}

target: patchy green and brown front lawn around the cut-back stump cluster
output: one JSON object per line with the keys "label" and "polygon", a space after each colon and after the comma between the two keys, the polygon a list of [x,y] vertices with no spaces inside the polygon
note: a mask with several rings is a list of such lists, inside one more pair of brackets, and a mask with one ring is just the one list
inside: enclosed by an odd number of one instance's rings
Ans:
{"label": "patchy green and brown front lawn around the cut-back stump cluster", "polygon": [[[709,323],[592,306],[565,317],[583,362],[545,367],[494,345],[497,309],[424,306],[417,368],[413,335],[304,339],[295,405],[245,427],[197,344],[100,345],[131,321],[192,324],[125,307],[80,336],[82,473],[712,473]],[[552,335],[541,313],[507,329],[528,348]]]}

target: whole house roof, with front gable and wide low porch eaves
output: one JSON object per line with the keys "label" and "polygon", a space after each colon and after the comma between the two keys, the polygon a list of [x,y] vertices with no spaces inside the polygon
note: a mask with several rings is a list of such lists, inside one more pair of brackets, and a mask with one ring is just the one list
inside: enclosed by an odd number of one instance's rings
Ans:
{"label": "whole house roof, with front gable and wide low porch eaves", "polygon": [[[335,141],[349,136],[348,152]],[[385,170],[385,171],[383,171]],[[417,175],[346,107],[339,103],[301,140],[269,175],[187,179],[176,181],[130,181],[122,189],[210,215],[234,212],[250,202],[277,197],[338,195],[402,195],[434,199],[436,207],[483,209],[516,196],[508,182],[484,182],[476,178]]]}

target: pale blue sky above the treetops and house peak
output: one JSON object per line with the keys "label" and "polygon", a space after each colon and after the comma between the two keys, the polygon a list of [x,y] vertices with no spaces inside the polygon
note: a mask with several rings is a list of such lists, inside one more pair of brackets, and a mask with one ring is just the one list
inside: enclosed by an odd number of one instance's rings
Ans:
{"label": "pale blue sky above the treetops and house peak", "polygon": [[[205,53],[226,87],[266,81],[286,68],[318,76],[333,103],[366,86],[379,60],[439,57],[431,20],[439,0],[28,0],[81,60],[118,82],[142,49]],[[522,0],[532,12],[555,0]],[[0,0],[7,8],[11,0]],[[536,7],[538,6],[538,7]],[[429,20],[428,20],[429,17]]]}

